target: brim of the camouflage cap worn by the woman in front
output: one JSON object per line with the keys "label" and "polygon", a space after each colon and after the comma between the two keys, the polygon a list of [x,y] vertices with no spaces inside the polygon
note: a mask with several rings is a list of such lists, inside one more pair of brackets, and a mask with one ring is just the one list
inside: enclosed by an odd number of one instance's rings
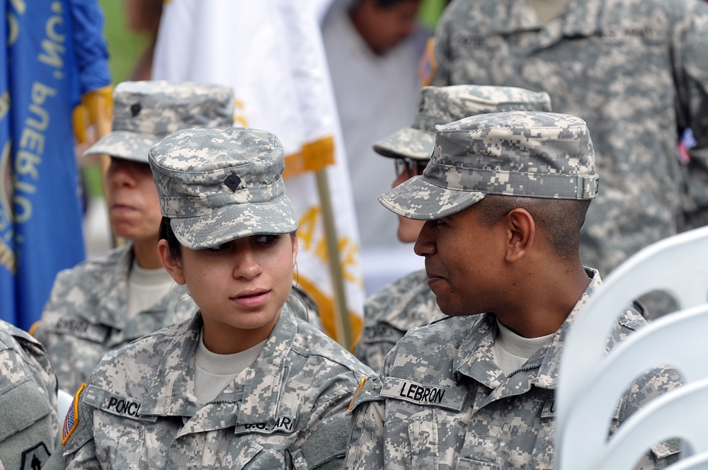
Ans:
{"label": "brim of the camouflage cap worn by the woman in front", "polygon": [[173,218],[171,226],[183,246],[199,250],[244,236],[289,234],[297,229],[297,216],[282,195],[275,202],[229,204],[209,215]]}

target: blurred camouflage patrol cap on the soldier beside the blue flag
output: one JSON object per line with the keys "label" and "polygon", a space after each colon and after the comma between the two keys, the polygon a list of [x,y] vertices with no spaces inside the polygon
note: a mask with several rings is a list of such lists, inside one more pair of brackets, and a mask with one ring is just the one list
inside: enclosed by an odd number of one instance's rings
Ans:
{"label": "blurred camouflage patrol cap on the soldier beside the blue flag", "polygon": [[188,127],[234,125],[234,92],[193,81],[124,81],[113,91],[113,130],[84,155],[108,154],[147,164],[150,147]]}

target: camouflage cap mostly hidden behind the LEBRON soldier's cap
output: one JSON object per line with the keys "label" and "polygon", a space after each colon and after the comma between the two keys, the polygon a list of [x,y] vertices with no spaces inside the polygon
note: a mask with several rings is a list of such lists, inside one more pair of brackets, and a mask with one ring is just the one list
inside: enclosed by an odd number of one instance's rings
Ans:
{"label": "camouflage cap mostly hidden behind the LEBRON soldier's cap", "polygon": [[551,97],[545,91],[513,86],[425,86],[418,96],[418,113],[411,127],[397,130],[373,147],[383,156],[428,160],[437,125],[483,113],[550,110]]}

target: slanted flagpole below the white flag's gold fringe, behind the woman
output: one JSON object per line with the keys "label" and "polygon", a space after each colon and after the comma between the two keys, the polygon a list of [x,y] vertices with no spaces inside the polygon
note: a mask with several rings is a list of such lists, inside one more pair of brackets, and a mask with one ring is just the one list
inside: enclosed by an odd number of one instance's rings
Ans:
{"label": "slanted flagpole below the white flag's gold fringe, behind the woman", "polygon": [[334,290],[333,317],[334,329],[337,343],[350,349],[352,344],[351,328],[349,324],[349,314],[347,312],[346,293],[344,292],[344,276],[342,275],[342,265],[339,260],[339,246],[336,228],[334,227],[334,216],[332,203],[329,197],[329,179],[327,178],[326,167],[316,171],[317,190],[322,209],[322,219],[324,220],[324,232],[329,255],[329,268],[332,274],[332,286]]}

